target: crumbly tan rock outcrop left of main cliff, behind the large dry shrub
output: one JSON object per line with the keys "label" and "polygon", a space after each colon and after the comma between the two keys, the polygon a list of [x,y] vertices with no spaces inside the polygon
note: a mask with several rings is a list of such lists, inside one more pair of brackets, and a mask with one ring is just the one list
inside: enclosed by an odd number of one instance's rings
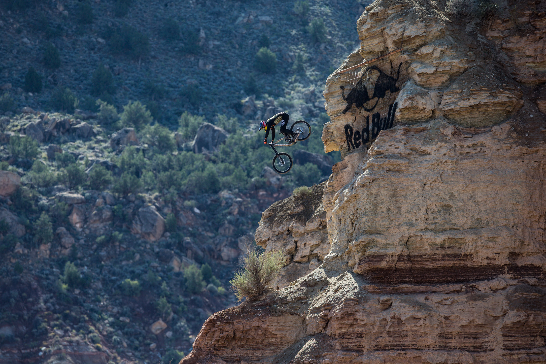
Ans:
{"label": "crumbly tan rock outcrop left of main cliff, behind the large dry shrub", "polygon": [[284,249],[290,256],[272,287],[283,288],[314,270],[330,250],[326,212],[322,205],[325,182],[312,186],[304,196],[277,201],[262,213],[256,243],[266,252]]}

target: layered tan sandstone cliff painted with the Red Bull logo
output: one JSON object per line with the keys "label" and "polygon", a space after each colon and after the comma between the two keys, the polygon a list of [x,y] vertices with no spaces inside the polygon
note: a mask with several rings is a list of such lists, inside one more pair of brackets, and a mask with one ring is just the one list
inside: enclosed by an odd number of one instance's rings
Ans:
{"label": "layered tan sandstone cliff painted with the Red Bull logo", "polygon": [[181,363],[546,361],[544,10],[369,5],[324,91],[325,150],[344,158],[321,207],[276,202],[260,222],[295,261],[322,246],[301,226],[323,209],[328,255],[212,315]]}

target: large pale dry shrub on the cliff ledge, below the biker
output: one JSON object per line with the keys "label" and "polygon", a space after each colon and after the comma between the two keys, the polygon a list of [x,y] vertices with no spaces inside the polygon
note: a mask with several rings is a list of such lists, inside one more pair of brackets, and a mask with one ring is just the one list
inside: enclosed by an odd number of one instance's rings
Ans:
{"label": "large pale dry shrub on the cliff ledge, below the biker", "polygon": [[277,276],[283,267],[286,254],[280,252],[262,253],[259,247],[247,245],[246,255],[243,258],[242,270],[235,273],[229,283],[232,285],[235,296],[241,301],[243,297],[259,296]]}

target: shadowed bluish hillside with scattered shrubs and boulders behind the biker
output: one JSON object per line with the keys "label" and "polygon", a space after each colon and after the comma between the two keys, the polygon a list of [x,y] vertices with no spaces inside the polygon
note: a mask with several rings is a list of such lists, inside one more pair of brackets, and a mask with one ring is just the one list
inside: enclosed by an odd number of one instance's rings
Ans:
{"label": "shadowed bluish hillside with scattered shrubs and boulders behind the biker", "polygon": [[[235,305],[228,282],[260,214],[339,160],[318,137],[319,91],[358,45],[361,11],[0,0],[0,363],[189,353]],[[313,128],[283,176],[256,133],[279,111]],[[296,215],[318,223],[304,236],[325,236],[321,188]],[[307,249],[294,267],[328,252]]]}

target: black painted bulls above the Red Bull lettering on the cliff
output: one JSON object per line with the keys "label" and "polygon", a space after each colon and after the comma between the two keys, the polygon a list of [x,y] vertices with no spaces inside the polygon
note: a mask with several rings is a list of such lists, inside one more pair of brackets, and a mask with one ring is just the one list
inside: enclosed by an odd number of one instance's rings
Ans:
{"label": "black painted bulls above the Red Bull lettering on the cliff", "polygon": [[[341,96],[343,97],[343,100],[347,102],[347,106],[345,110],[343,110],[343,114],[345,114],[347,111],[351,110],[353,104],[357,106],[357,109],[364,108],[366,111],[372,111],[376,108],[377,103],[379,102],[379,99],[385,98],[385,93],[387,93],[387,90],[390,91],[390,93],[394,93],[396,91],[399,91],[399,87],[396,87],[396,82],[400,78],[400,67],[402,67],[402,62],[398,65],[398,72],[396,74],[396,78],[392,76],[393,74],[393,63],[390,63],[390,76],[386,73],[384,73],[381,69],[377,68],[375,65],[372,65],[371,67],[368,67],[364,70],[362,73],[362,76],[360,76],[360,80],[358,80],[357,84],[354,85],[353,89],[347,97],[345,97],[345,87],[340,86],[341,88]],[[364,85],[363,79],[364,75],[369,70],[376,70],[379,72],[379,76],[377,77],[377,80],[375,82],[375,85],[373,86],[373,95],[372,97],[368,94],[368,89],[366,85]],[[371,100],[376,99],[375,105],[372,106],[372,108],[368,109],[364,104],[367,102],[370,102]]]}

